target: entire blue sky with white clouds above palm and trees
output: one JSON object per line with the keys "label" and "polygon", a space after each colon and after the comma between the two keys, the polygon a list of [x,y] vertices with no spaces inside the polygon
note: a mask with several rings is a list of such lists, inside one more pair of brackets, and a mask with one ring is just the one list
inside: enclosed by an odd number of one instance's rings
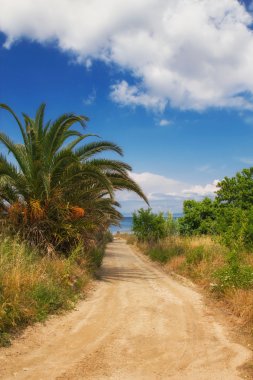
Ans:
{"label": "entire blue sky with white clouds above palm and trees", "polygon": [[[0,0],[0,101],[89,116],[153,208],[180,212],[253,165],[252,2],[118,3]],[[19,140],[3,111],[0,128]],[[126,214],[143,206],[119,200]]]}

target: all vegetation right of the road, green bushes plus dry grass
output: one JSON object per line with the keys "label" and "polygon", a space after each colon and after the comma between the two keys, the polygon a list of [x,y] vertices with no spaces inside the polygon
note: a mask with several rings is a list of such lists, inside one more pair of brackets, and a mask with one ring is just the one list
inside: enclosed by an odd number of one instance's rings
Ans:
{"label": "all vegetation right of the road, green bushes plus dry grass", "polygon": [[138,210],[129,242],[198,283],[252,332],[253,168],[226,177],[213,200],[186,200],[183,211],[175,220]]}

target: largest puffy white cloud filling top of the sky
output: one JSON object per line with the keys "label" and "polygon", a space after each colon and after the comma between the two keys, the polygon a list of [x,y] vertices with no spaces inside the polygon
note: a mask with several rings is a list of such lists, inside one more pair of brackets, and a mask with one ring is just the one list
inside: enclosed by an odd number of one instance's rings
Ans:
{"label": "largest puffy white cloud filling top of the sky", "polygon": [[6,48],[55,42],[90,68],[100,59],[136,80],[122,105],[252,109],[252,16],[237,0],[0,0]]}

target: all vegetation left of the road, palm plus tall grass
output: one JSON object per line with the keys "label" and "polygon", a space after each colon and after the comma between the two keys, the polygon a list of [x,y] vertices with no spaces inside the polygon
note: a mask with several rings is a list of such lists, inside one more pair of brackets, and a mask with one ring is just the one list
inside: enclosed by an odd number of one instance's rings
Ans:
{"label": "all vegetation left of the road, palm plus tall grass", "polygon": [[[45,121],[45,105],[23,121],[18,142],[0,132],[0,344],[9,334],[69,308],[101,264],[108,227],[121,214],[115,192],[146,202],[121,160],[101,158],[122,149],[84,131],[75,114]],[[1,129],[8,131],[7,125]]]}

